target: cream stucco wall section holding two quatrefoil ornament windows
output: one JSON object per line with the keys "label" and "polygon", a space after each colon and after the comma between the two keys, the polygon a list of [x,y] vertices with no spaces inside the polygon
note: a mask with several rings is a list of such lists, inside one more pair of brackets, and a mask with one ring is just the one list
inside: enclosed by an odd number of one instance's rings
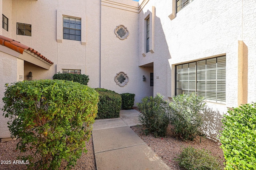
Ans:
{"label": "cream stucco wall section holding two quatrefoil ornament windows", "polygon": [[[124,1],[122,3],[128,4]],[[141,92],[150,83],[142,81],[146,69],[138,66],[138,13],[132,10],[123,10],[122,6],[113,7],[106,3],[101,6],[101,87],[118,93],[134,93],[137,103],[142,97],[152,95],[152,92]],[[124,40],[114,33],[118,25],[124,25],[129,31]],[[124,72],[129,78],[123,87],[114,81],[118,72]],[[147,79],[150,80],[150,77],[147,76]]]}

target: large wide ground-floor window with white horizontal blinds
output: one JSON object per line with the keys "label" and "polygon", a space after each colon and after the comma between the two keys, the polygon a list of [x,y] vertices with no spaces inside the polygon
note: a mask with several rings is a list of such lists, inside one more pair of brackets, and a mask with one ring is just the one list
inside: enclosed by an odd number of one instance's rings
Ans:
{"label": "large wide ground-floor window with white horizontal blinds", "polygon": [[196,92],[208,102],[226,102],[226,56],[176,65],[176,95]]}

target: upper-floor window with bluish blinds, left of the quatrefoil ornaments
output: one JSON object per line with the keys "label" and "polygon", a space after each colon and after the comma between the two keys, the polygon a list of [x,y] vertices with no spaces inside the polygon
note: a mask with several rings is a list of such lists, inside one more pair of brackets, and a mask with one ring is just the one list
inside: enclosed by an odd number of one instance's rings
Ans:
{"label": "upper-floor window with bluish blinds, left of the quatrefoil ornaments", "polygon": [[81,19],[63,17],[63,39],[81,41]]}

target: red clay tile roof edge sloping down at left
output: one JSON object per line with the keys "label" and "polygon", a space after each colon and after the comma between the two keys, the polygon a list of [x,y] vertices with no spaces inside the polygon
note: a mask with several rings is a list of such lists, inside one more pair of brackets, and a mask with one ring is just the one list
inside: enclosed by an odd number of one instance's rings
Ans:
{"label": "red clay tile roof edge sloping down at left", "polygon": [[53,64],[52,61],[48,60],[46,57],[44,57],[43,55],[41,55],[40,53],[38,53],[36,50],[32,49],[31,47],[28,47],[28,46],[26,46],[18,41],[15,41],[13,39],[10,39],[8,37],[4,37],[4,36],[0,35],[0,45],[4,45],[14,51],[17,51],[20,54],[23,54],[24,49],[26,49],[26,50],[34,53],[35,55],[39,56],[46,62]]}

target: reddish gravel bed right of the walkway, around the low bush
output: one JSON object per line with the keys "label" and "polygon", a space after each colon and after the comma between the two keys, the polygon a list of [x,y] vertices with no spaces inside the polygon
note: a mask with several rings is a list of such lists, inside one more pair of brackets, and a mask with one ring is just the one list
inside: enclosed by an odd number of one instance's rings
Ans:
{"label": "reddish gravel bed right of the walkway, around the low bush", "polygon": [[[219,147],[220,143],[214,142],[211,139],[200,136],[196,137],[196,139],[191,141],[182,141],[177,139],[174,136],[174,133],[171,131],[171,126],[168,126],[166,137],[158,137],[155,138],[154,135],[149,134],[148,136],[143,135],[138,127],[132,127],[132,130],[172,169],[172,170],[182,170],[179,167],[178,162],[174,159],[178,157],[181,153],[182,148],[184,147],[194,147],[197,149],[206,149],[210,150],[212,156],[215,156],[216,159],[223,165],[225,161],[223,156],[223,151]],[[224,165],[223,165],[224,169]]]}

